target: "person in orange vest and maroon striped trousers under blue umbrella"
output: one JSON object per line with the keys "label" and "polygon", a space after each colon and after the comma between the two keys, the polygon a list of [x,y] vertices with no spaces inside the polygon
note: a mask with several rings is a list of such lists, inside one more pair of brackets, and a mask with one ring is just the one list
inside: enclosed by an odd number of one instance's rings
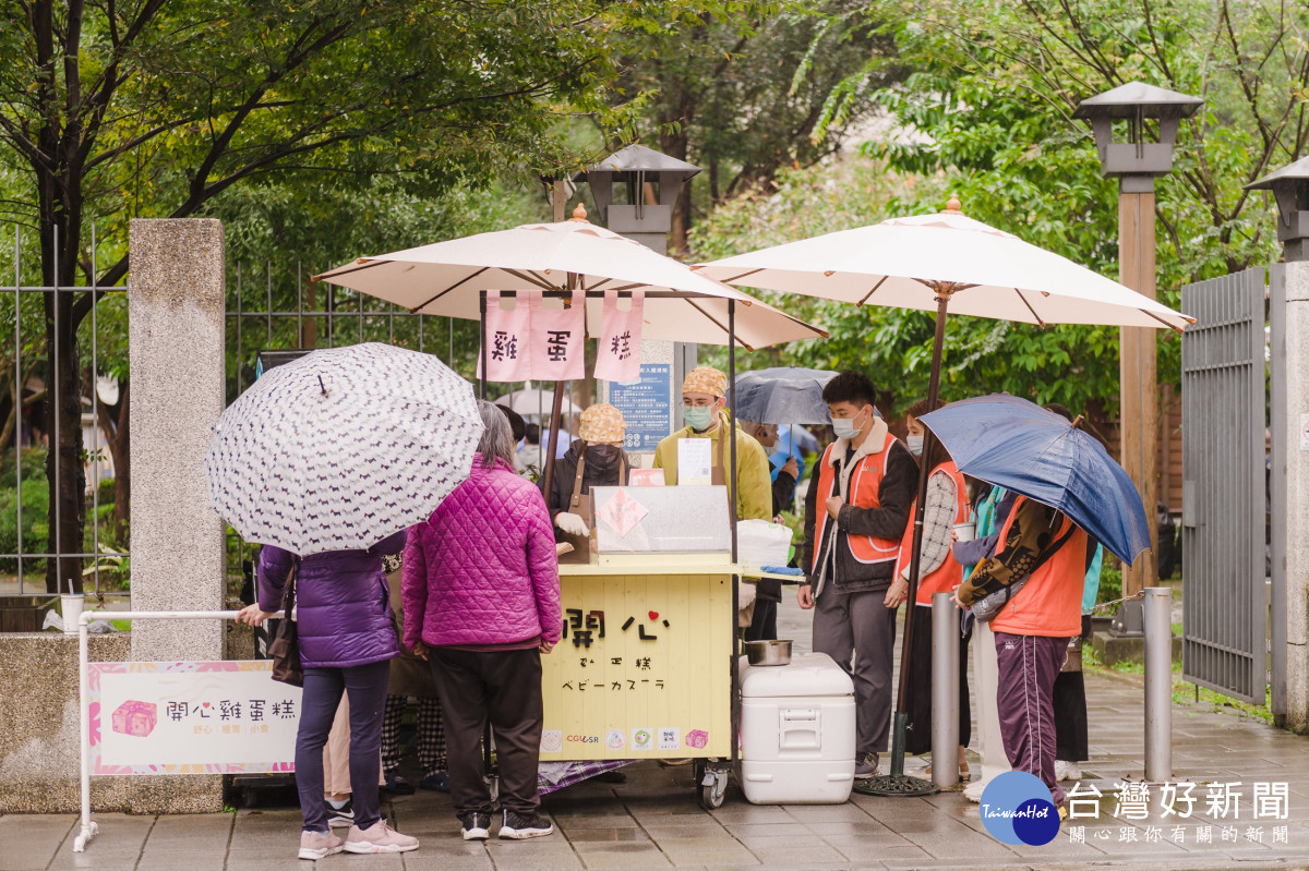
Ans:
{"label": "person in orange vest and maroon striped trousers under blue umbrella", "polygon": [[956,599],[970,607],[1028,578],[991,619],[999,671],[996,709],[1004,752],[1014,770],[1050,787],[1060,816],[1064,793],[1055,778],[1054,685],[1081,632],[1081,592],[1097,541],[1063,511],[1020,496],[1000,528],[995,556],[978,564]]}

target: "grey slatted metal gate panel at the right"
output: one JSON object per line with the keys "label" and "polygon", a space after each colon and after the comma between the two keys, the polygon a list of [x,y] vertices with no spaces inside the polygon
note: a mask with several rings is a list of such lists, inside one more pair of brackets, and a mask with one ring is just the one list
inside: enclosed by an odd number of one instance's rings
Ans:
{"label": "grey slatted metal gate panel at the right", "polygon": [[1182,672],[1264,702],[1266,271],[1182,288]]}

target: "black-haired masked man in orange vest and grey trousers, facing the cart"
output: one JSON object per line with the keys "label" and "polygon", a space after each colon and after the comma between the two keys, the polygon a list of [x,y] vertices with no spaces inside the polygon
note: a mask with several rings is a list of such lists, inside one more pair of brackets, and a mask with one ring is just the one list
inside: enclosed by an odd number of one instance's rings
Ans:
{"label": "black-haired masked man in orange vest and grey trousers, facing the cart", "polygon": [[[836,441],[805,497],[801,608],[814,608],[813,649],[855,681],[855,777],[877,774],[891,722],[895,608],[908,583],[894,578],[908,526],[918,463],[873,412],[873,382],[843,371],[822,391]],[[853,660],[853,662],[851,662]]]}

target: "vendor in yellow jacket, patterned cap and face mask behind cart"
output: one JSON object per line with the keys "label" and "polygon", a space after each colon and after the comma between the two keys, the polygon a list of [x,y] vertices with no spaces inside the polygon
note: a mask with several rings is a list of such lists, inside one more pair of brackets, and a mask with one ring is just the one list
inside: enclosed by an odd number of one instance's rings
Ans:
{"label": "vendor in yellow jacket, patterned cap and face mask behind cart", "polygon": [[664,470],[664,483],[677,485],[677,439],[711,438],[713,483],[725,484],[725,470],[732,466],[732,446],[725,434],[729,428],[737,439],[737,519],[772,519],[772,477],[768,455],[753,435],[733,426],[725,411],[728,377],[712,366],[696,366],[682,382],[682,418],[686,426],[665,437],[654,449],[654,468]]}

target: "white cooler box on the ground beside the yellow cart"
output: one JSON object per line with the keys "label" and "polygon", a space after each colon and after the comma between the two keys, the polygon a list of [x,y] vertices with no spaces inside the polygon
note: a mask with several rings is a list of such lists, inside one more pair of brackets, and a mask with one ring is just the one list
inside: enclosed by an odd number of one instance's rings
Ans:
{"label": "white cooler box on the ground beside the yellow cart", "polygon": [[839,804],[855,785],[855,685],[826,654],[741,657],[741,789],[754,804]]}

